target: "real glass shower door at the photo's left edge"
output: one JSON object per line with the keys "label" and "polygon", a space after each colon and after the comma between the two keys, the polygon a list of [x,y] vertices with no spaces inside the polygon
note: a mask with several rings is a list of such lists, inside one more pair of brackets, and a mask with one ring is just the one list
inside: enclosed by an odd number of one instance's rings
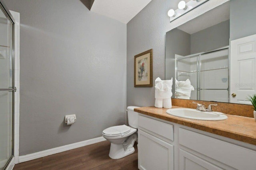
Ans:
{"label": "real glass shower door at the photo's left edge", "polygon": [[0,6],[0,170],[13,155],[13,23]]}

